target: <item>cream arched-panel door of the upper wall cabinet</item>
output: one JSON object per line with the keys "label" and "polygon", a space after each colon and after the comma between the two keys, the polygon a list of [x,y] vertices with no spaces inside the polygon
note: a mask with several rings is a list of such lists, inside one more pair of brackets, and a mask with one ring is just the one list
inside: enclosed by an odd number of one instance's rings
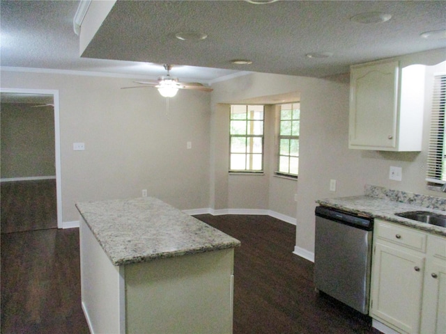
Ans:
{"label": "cream arched-panel door of the upper wall cabinet", "polygon": [[398,74],[398,61],[352,68],[350,148],[396,148]]}

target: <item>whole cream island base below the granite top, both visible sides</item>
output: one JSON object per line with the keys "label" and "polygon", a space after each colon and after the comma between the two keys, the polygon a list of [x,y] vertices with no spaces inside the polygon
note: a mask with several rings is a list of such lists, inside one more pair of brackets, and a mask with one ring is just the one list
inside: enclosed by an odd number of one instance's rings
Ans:
{"label": "whole cream island base below the granite top, both visible sides", "polygon": [[114,266],[81,218],[91,333],[232,333],[233,248]]}

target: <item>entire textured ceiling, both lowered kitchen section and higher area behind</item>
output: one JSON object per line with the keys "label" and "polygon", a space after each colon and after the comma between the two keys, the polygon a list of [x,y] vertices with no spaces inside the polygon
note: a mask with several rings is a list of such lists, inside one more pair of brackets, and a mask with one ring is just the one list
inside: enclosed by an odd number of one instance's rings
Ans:
{"label": "entire textured ceiling, both lowered kitchen section and higher area behind", "polygon": [[[446,26],[446,1],[118,1],[79,57],[79,1],[0,1],[0,65],[155,78],[162,63],[181,81],[212,84],[242,71],[324,77],[349,65],[446,46],[421,33]],[[359,24],[364,12],[392,15]],[[206,40],[181,41],[180,31]],[[307,58],[332,52],[330,58]],[[233,65],[248,58],[252,65]],[[446,58],[446,57],[445,57]]]}

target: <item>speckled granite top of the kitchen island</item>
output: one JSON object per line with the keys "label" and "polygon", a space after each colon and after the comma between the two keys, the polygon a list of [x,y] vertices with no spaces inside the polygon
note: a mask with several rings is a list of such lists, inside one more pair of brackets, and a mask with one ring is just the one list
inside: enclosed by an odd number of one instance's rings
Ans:
{"label": "speckled granite top of the kitchen island", "polygon": [[237,239],[156,198],[76,207],[115,266],[240,246]]}

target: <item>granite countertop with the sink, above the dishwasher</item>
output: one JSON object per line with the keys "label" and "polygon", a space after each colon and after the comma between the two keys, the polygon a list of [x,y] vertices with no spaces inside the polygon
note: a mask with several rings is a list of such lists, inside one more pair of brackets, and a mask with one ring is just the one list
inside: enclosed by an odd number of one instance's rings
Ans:
{"label": "granite countertop with the sink, above the dishwasher", "polygon": [[353,212],[355,214],[361,214],[373,218],[380,218],[385,221],[392,221],[394,223],[406,225],[410,228],[417,228],[418,230],[424,230],[432,234],[438,234],[446,237],[446,228],[395,216],[395,214],[399,212],[408,211],[429,211],[446,215],[446,211],[429,207],[429,205],[413,205],[406,202],[399,202],[397,200],[388,200],[385,198],[377,198],[373,196],[327,198],[316,200],[316,202],[319,205],[323,205],[326,207],[333,207],[334,209],[341,209],[346,212]]}

